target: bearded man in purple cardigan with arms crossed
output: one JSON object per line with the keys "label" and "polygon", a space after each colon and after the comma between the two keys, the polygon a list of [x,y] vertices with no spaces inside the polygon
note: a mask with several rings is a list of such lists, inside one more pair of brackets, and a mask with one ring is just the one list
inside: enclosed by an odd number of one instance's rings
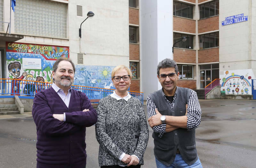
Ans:
{"label": "bearded man in purple cardigan with arms crossed", "polygon": [[35,95],[32,116],[37,131],[37,168],[85,168],[85,127],[97,121],[87,96],[71,88],[74,63],[60,57],[52,87]]}

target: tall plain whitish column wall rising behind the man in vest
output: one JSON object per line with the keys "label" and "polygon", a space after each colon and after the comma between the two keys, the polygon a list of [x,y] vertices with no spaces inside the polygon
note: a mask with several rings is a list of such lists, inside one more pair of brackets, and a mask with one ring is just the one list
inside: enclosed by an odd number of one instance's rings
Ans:
{"label": "tall plain whitish column wall rising behind the man in vest", "polygon": [[141,20],[141,80],[144,100],[148,94],[159,90],[161,84],[156,77],[158,62],[172,59],[173,4],[169,0],[142,0]]}

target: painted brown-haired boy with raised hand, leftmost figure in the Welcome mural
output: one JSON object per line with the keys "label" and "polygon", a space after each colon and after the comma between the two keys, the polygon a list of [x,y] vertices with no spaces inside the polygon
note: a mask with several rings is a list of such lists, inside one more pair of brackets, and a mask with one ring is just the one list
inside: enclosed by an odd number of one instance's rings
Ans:
{"label": "painted brown-haired boy with raised hand, leftmost figure in the Welcome mural", "polygon": [[[8,65],[8,70],[9,73],[12,74],[13,76],[13,80],[12,80],[12,93],[20,93],[20,81],[19,80],[15,80],[15,79],[23,79],[25,76],[27,76],[27,72],[23,72],[22,75],[20,76],[20,62],[12,62]],[[20,76],[18,78],[18,76]],[[11,94],[13,95],[13,94]]]}

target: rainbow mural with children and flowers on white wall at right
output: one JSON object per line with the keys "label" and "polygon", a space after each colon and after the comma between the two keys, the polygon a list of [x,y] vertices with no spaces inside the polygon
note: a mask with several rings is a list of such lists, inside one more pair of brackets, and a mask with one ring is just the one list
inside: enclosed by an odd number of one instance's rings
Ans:
{"label": "rainbow mural with children and flowers on white wall at right", "polygon": [[220,72],[220,78],[222,80],[221,90],[226,91],[226,94],[251,95],[252,94],[251,79],[254,77],[255,76],[252,72],[252,69],[221,71]]}

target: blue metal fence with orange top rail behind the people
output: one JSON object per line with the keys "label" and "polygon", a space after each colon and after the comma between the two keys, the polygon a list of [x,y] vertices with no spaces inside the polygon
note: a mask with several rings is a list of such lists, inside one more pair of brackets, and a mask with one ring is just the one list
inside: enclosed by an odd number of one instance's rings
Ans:
{"label": "blue metal fence with orange top rail behind the people", "polygon": [[[21,79],[0,79],[0,95],[18,95],[22,98],[33,98],[37,92],[52,86],[49,82],[28,81]],[[87,95],[90,100],[102,99],[113,93],[114,89],[105,89],[98,87],[88,87],[72,85],[72,89],[81,91]],[[128,91],[133,97],[136,97],[143,104],[143,92]]]}

